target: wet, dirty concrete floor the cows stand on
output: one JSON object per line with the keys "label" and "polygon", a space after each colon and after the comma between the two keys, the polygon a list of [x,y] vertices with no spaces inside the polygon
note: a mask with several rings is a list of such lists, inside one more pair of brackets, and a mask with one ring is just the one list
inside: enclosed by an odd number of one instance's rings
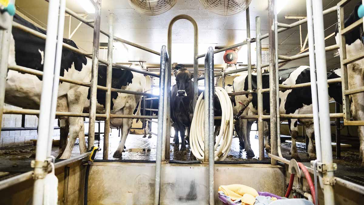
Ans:
{"label": "wet, dirty concrete floor the cows stand on", "polygon": [[[154,130],[155,129],[155,130]],[[156,128],[152,129],[154,133],[157,133]],[[173,134],[173,133],[172,133]],[[250,134],[250,142],[252,149],[254,151],[253,158],[247,158],[244,149],[239,146],[238,138],[233,138],[232,147],[229,151],[229,155],[226,161],[257,161],[258,156],[258,139],[255,139],[256,131],[252,131]],[[301,139],[303,140],[303,139]],[[122,159],[113,158],[116,148],[119,145],[120,137],[118,137],[118,130],[112,129],[111,136],[109,139],[109,160],[155,160],[156,155],[156,144],[157,137],[152,136],[152,138],[142,138],[142,135],[130,134],[126,140],[126,150],[123,153]],[[182,155],[178,150],[181,147],[177,147],[173,143],[173,138],[170,139],[170,160],[194,160],[193,155],[190,152],[189,145],[186,146],[187,154]],[[95,145],[103,147],[103,140],[95,140]],[[290,159],[289,150],[290,144],[282,143],[282,155],[286,159]],[[302,162],[309,162],[308,156],[304,149],[297,148],[298,155]],[[15,147],[5,147],[0,149],[0,171],[12,171],[12,172],[24,172],[31,170],[30,162],[33,158],[29,158],[34,151],[33,145],[15,146]],[[60,150],[58,147],[52,147],[52,155],[58,156]],[[79,146],[76,144],[72,150],[72,156],[77,156],[80,154]],[[333,152],[335,156],[335,152]],[[268,158],[268,153],[265,151],[265,158]],[[96,159],[102,159],[102,151],[96,154]],[[348,151],[342,151],[341,158],[335,159],[334,162],[338,164],[337,175],[364,175],[364,169],[360,167],[361,160],[359,159],[359,148],[352,148]]]}

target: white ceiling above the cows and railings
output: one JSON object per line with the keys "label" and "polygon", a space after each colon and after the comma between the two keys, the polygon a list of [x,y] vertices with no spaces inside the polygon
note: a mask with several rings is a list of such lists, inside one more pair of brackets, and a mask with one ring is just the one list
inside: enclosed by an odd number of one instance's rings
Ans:
{"label": "white ceiling above the cows and railings", "polygon": [[[296,20],[284,19],[285,15],[290,16],[305,16],[306,5],[305,0],[287,0],[288,3],[278,14],[278,22],[293,23]],[[340,0],[323,0],[325,9],[332,7]],[[353,3],[352,3],[353,4]],[[348,5],[349,7],[352,4]],[[27,15],[40,25],[46,26],[47,24],[47,10],[48,2],[44,0],[16,0],[16,5],[19,10]],[[85,13],[78,1],[67,0],[67,7],[77,13]],[[268,32],[268,0],[252,0],[250,4],[250,28],[251,37],[256,36],[255,32],[255,18],[261,16],[262,34]],[[350,13],[347,9],[346,14]],[[102,18],[101,28],[108,30],[108,14],[115,13],[115,26],[114,35],[119,38],[137,43],[139,45],[148,47],[150,49],[160,51],[162,45],[167,43],[167,30],[170,20],[177,15],[186,14],[194,18],[198,24],[199,34],[199,54],[207,51],[209,46],[229,46],[240,43],[246,39],[246,18],[245,12],[234,16],[219,16],[211,13],[202,8],[198,0],[177,0],[175,6],[169,11],[157,15],[146,16],[141,15],[134,11],[127,0],[102,0]],[[68,37],[68,19],[66,17],[64,37]],[[93,19],[94,15],[90,14],[88,19]],[[336,13],[331,13],[324,17],[325,28],[328,28],[336,23]],[[78,20],[72,18],[71,32],[79,23]],[[325,31],[325,35],[329,35],[335,31],[335,25]],[[294,34],[293,34],[294,33]],[[293,35],[292,35],[293,34]],[[307,34],[306,24],[302,25],[302,41]],[[290,36],[292,35],[292,36]],[[92,28],[82,24],[72,36],[72,40],[76,44],[86,50],[92,51]],[[290,36],[288,38],[288,36]],[[288,38],[288,39],[286,39]],[[285,41],[284,41],[285,40]],[[284,41],[284,43],[282,43]],[[107,42],[104,35],[100,35],[100,42]],[[178,20],[173,26],[173,59],[172,62],[178,63],[193,63],[193,27],[187,20]],[[293,55],[300,51],[300,48],[295,49],[300,45],[300,32],[299,27],[282,32],[278,35],[279,46],[278,53],[282,55]],[[268,38],[262,41],[262,46],[268,46]],[[335,39],[331,38],[326,42],[326,46],[335,44]],[[132,61],[147,61],[150,64],[158,64],[160,59],[155,54],[131,47],[127,45],[127,50],[121,43],[115,43],[114,62],[127,62]],[[295,50],[293,50],[295,49]],[[100,57],[106,58],[106,55],[100,51]],[[255,43],[252,44],[252,61],[255,63]],[[339,58],[333,58],[334,51],[327,53],[328,69],[339,66]],[[215,64],[223,64],[222,53],[215,54]],[[263,57],[265,56],[263,52]],[[203,58],[199,59],[199,63],[203,64]],[[246,63],[246,46],[243,46],[239,52],[238,62]],[[265,62],[265,59],[263,59]],[[308,65],[308,58],[296,60],[288,63],[285,67],[292,67],[297,65]]]}

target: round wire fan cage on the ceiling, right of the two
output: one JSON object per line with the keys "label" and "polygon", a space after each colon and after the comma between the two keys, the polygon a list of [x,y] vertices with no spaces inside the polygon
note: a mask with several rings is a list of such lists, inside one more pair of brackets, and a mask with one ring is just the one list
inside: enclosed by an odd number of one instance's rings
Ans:
{"label": "round wire fan cage on the ceiling, right of the two", "polygon": [[222,16],[241,13],[249,7],[252,0],[199,0],[206,10]]}

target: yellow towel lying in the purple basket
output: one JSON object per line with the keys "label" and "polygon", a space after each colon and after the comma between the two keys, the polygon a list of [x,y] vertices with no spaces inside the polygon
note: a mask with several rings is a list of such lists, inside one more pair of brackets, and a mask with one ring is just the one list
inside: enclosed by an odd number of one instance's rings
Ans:
{"label": "yellow towel lying in the purple basket", "polygon": [[[244,194],[248,194],[244,198],[248,201],[245,202],[242,200],[242,202],[245,204],[249,204],[249,202],[251,202],[250,199],[252,199],[252,197],[254,198],[254,202],[255,202],[255,197],[258,196],[258,192],[255,189],[253,189],[252,187],[249,187],[249,186],[241,185],[241,184],[221,185],[221,186],[219,186],[219,191],[222,191],[226,196],[229,196],[231,198],[231,200],[233,200],[233,201],[242,198],[244,196]],[[254,202],[253,202],[253,204],[254,204]],[[253,204],[251,204],[251,205],[253,205]]]}

